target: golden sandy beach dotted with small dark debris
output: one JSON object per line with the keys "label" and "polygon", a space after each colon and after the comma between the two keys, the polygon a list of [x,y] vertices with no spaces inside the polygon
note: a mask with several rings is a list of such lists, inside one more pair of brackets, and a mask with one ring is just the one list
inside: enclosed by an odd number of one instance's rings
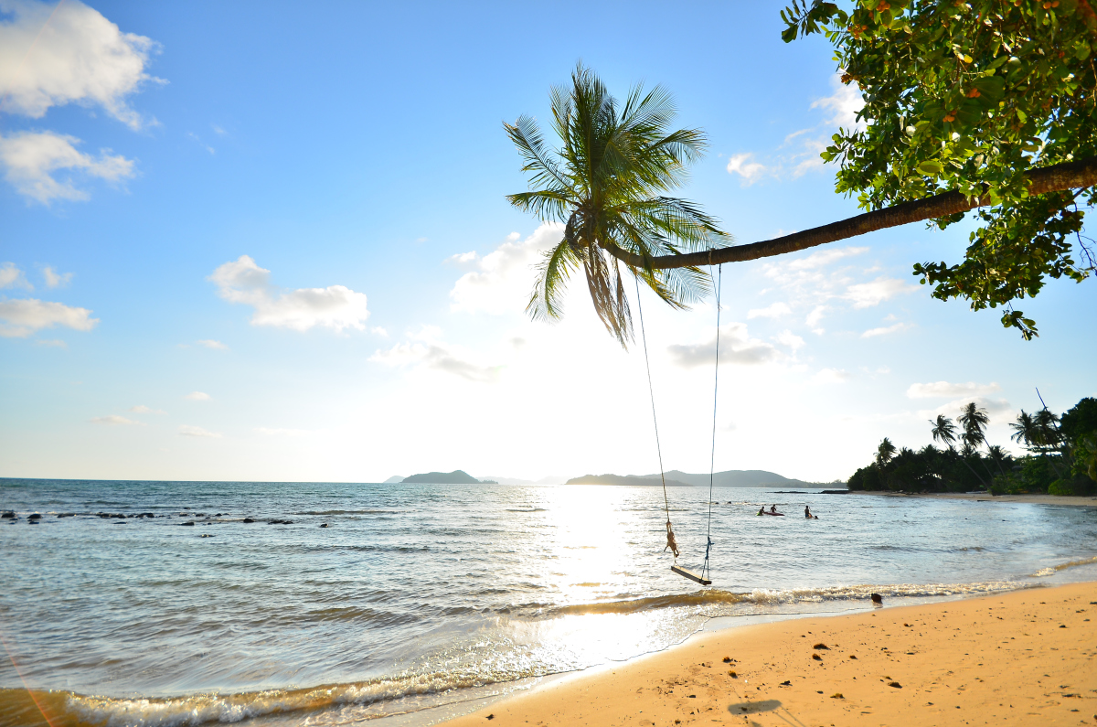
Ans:
{"label": "golden sandy beach dotted with small dark debris", "polygon": [[1097,583],[698,635],[444,723],[1097,724]]}

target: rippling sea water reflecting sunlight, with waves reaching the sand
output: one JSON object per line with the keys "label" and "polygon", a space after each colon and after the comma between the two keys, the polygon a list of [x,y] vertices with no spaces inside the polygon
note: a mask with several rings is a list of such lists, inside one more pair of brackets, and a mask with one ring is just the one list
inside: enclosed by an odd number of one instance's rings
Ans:
{"label": "rippling sea water reflecting sunlight, with waves reaching the sand", "polygon": [[714,618],[1097,570],[1095,507],[774,490],[0,480],[0,724],[422,724]]}

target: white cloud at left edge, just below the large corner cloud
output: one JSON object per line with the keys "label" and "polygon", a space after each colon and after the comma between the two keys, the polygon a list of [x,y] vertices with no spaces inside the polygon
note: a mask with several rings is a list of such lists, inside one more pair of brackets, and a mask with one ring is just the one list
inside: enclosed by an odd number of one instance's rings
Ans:
{"label": "white cloud at left edge, just below the large corner cloud", "polygon": [[87,200],[71,177],[57,179],[58,170],[76,170],[87,177],[117,182],[134,176],[134,163],[100,149],[99,157],[77,150],[75,136],[54,132],[14,132],[0,136],[0,167],[15,191],[42,204],[53,200]]}

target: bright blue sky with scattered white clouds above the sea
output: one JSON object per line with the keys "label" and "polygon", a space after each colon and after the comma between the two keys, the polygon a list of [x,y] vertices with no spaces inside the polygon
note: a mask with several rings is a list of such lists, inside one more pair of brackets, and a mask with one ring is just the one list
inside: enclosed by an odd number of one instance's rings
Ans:
{"label": "bright blue sky with scattered white clouds above the sea", "polygon": [[[679,194],[738,242],[851,216],[818,153],[860,97],[781,8],[0,0],[0,477],[657,472],[640,342],[581,280],[524,314],[562,230],[505,199],[502,123],[583,61],[674,93],[710,142]],[[1092,279],[1018,305],[1029,343],[917,284],[971,230],[724,265],[715,400],[714,301],[642,293],[666,469],[715,424],[717,471],[845,480],[968,401],[1009,447],[1037,389],[1097,395]]]}

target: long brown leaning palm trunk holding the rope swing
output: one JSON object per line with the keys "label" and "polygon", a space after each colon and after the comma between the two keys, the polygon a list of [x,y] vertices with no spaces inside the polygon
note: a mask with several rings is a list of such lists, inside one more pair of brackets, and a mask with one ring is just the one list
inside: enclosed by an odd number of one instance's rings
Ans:
{"label": "long brown leaning palm trunk holding the rope swing", "polygon": [[[1045,194],[1066,189],[1078,189],[1097,184],[1097,157],[1088,157],[1077,161],[1056,164],[1041,169],[1025,172],[1029,182],[1029,194]],[[986,206],[991,203],[988,197],[968,199],[960,192],[943,192],[923,200],[903,202],[895,206],[884,208],[859,214],[856,217],[832,222],[822,227],[813,227],[803,232],[749,245],[719,247],[701,253],[685,255],[661,255],[645,259],[634,253],[609,245],[606,251],[634,268],[649,267],[657,270],[670,268],[701,267],[721,262],[742,262],[757,260],[774,255],[784,255],[798,250],[825,245],[848,237],[857,237],[885,227],[897,227],[920,220],[936,220],[958,212]]]}

